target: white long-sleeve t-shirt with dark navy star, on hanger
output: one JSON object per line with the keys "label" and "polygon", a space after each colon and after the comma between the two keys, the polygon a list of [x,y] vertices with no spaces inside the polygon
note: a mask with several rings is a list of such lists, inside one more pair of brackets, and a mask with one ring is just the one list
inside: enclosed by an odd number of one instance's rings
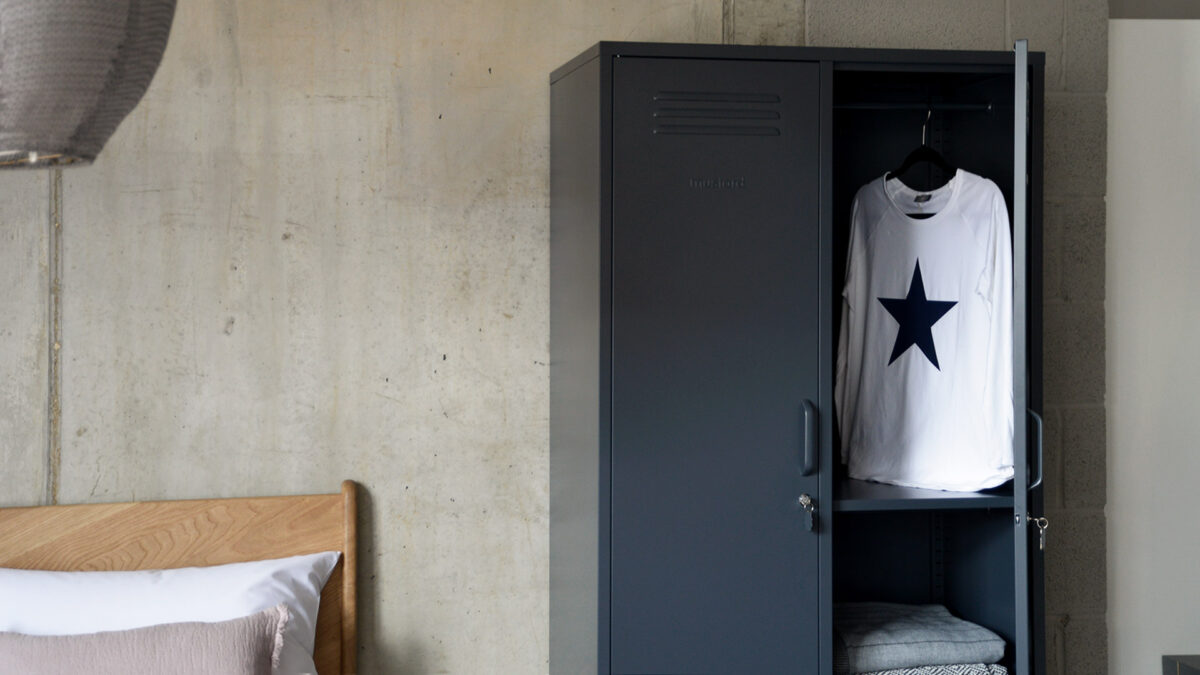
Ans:
{"label": "white long-sleeve t-shirt with dark navy star, on hanger", "polygon": [[859,189],[834,392],[851,478],[972,491],[1013,477],[1009,237],[1000,189],[961,169],[930,192]]}

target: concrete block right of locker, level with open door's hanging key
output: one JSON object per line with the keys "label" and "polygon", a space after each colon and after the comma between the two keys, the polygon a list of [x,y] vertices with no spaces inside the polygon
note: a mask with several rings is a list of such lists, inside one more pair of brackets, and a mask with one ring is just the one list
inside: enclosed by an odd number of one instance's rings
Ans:
{"label": "concrete block right of locker, level with open door's hanging key", "polygon": [[1104,513],[1046,509],[1046,614],[1103,614],[1108,597]]}

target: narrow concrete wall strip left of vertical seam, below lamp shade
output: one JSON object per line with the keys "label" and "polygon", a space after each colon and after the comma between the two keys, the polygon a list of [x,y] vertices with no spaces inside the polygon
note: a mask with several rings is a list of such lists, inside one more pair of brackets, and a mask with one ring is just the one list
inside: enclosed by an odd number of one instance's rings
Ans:
{"label": "narrow concrete wall strip left of vertical seam, below lamp shade", "polygon": [[46,494],[49,181],[0,174],[0,506]]}

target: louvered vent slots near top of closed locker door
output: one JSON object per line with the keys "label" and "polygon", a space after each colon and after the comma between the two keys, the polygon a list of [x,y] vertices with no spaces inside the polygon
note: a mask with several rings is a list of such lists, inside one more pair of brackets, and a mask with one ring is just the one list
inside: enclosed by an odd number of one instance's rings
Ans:
{"label": "louvered vent slots near top of closed locker door", "polygon": [[654,95],[654,133],[779,136],[778,94],[736,91],[659,91]]}

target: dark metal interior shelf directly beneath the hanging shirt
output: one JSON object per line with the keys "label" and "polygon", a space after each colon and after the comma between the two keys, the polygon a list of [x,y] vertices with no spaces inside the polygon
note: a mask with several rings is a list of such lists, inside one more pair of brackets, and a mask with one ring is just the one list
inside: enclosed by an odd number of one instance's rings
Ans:
{"label": "dark metal interior shelf directly beneath the hanging shirt", "polygon": [[1012,507],[1012,482],[983,492],[947,492],[943,490],[884,485],[882,483],[870,483],[851,478],[842,478],[834,485],[833,509],[836,512]]}

